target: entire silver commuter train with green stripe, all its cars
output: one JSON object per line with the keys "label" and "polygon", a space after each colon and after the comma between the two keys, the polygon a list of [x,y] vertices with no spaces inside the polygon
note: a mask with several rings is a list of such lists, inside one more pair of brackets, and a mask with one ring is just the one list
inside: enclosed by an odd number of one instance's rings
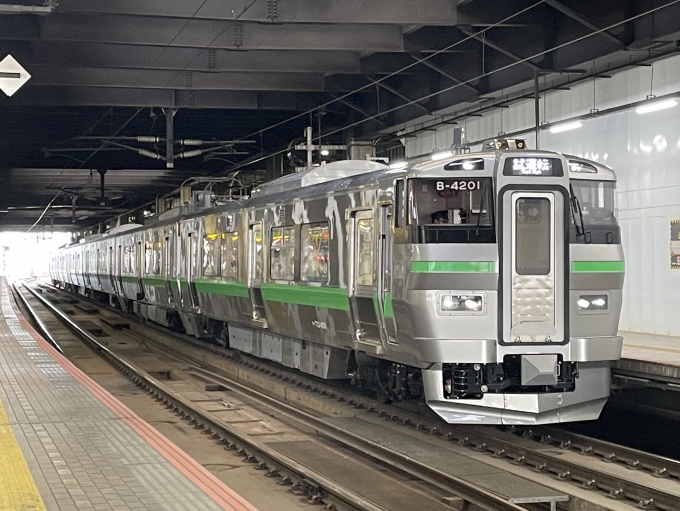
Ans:
{"label": "entire silver commuter train with green stripe, all its cars", "polygon": [[623,251],[614,172],[546,151],[336,162],[61,249],[55,283],[450,423],[595,419]]}

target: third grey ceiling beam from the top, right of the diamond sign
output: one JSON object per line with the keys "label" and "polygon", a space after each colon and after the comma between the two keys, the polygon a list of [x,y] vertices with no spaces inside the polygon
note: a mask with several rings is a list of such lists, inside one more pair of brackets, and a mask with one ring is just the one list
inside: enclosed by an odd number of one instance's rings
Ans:
{"label": "third grey ceiling beam from the top, right of the diamond sign", "polygon": [[[1,36],[0,36],[1,37]],[[349,51],[251,50],[35,41],[32,63],[76,67],[358,73],[359,53]]]}

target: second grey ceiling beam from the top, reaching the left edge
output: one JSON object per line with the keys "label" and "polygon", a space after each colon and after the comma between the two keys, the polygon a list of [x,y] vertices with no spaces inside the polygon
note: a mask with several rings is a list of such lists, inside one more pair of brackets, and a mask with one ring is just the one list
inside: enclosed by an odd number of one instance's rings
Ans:
{"label": "second grey ceiling beam from the top, reaching the left edge", "polygon": [[[0,21],[3,18],[0,17]],[[23,25],[27,25],[24,29]],[[399,25],[262,24],[109,14],[53,14],[36,27],[19,17],[0,39],[80,41],[231,50],[403,51]]]}

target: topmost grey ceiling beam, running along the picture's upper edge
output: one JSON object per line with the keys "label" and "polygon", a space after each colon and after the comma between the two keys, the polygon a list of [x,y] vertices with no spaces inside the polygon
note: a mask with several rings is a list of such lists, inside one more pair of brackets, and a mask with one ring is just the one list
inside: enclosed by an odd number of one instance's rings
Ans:
{"label": "topmost grey ceiling beam, running along the picture's upper edge", "polygon": [[[249,2],[250,3],[250,2]],[[450,0],[269,0],[255,1],[244,10],[243,0],[59,0],[65,13],[126,14],[279,23],[378,23],[453,25],[456,9]]]}

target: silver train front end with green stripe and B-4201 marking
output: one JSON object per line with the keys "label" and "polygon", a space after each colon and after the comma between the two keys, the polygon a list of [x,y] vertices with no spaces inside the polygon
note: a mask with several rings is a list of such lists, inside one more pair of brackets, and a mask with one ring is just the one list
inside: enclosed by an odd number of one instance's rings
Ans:
{"label": "silver train front end with green stripe and B-4201 marking", "polygon": [[395,227],[395,319],[432,363],[425,397],[447,422],[599,416],[622,346],[614,188],[607,167],[544,151],[411,166]]}

